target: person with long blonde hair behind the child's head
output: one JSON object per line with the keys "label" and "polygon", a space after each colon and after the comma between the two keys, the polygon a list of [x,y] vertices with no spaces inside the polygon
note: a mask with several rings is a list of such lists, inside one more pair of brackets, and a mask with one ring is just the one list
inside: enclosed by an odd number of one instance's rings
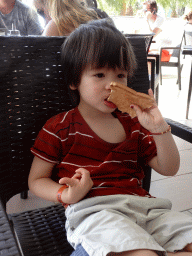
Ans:
{"label": "person with long blonde hair behind the child's head", "polygon": [[33,0],[33,5],[45,20],[44,36],[67,36],[80,24],[108,18],[97,8],[96,1],[87,0]]}

